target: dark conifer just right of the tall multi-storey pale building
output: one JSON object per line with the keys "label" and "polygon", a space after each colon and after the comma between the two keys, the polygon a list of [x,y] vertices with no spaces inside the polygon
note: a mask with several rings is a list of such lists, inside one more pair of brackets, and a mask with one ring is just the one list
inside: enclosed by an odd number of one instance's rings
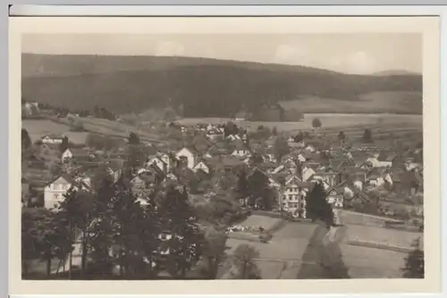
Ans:
{"label": "dark conifer just right of the tall multi-storey pale building", "polygon": [[316,183],[311,192],[306,196],[307,217],[319,219],[327,226],[333,225],[333,209],[326,200],[323,184]]}

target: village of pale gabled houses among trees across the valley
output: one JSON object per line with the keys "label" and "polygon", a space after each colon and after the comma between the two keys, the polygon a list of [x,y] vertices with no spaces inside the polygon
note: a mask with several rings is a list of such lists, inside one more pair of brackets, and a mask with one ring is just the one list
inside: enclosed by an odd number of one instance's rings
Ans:
{"label": "village of pale gabled houses among trees across the valley", "polygon": [[[268,243],[274,233],[269,231],[284,224],[270,224],[261,216],[295,223],[315,221],[307,203],[317,185],[333,210],[333,226],[343,224],[338,210],[347,210],[388,217],[389,225],[399,221],[395,226],[422,232],[422,145],[415,142],[402,149],[392,142],[391,146],[376,144],[369,129],[355,140],[342,131],[335,137],[325,136],[319,132],[321,121],[314,122],[314,129],[306,132],[281,132],[262,125],[248,132],[237,120],[164,123],[164,132],[168,129],[178,137],[156,143],[140,140],[135,132],[122,140],[90,132],[85,143],[76,143],[63,133],[30,140],[22,129],[22,209],[62,213],[72,192],[97,192],[97,177],[107,175],[115,184],[125,180],[143,209],[151,208],[158,192],[165,194],[175,185],[179,193],[186,193],[202,230],[212,226],[223,229],[225,239],[246,240],[250,234],[251,240]],[[260,219],[243,224],[247,217]],[[93,219],[89,221],[91,225]],[[159,237],[172,236],[173,231],[164,229]],[[81,251],[80,241],[73,242]],[[164,247],[158,254],[169,254],[166,251],[169,249]],[[55,264],[47,264],[46,273],[60,275],[68,267],[72,270],[76,267],[74,255],[67,266],[66,255],[55,268]],[[79,260],[77,267],[84,263]],[[222,264],[219,266],[215,271],[223,270]],[[215,273],[212,278],[225,278],[225,273],[217,276]]]}

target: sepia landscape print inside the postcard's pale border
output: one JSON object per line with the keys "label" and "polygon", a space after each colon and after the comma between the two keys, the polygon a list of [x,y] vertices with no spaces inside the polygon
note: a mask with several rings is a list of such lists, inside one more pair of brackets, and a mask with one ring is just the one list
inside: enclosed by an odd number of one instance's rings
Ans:
{"label": "sepia landscape print inside the postcard's pale border", "polygon": [[21,279],[424,279],[423,41],[22,34]]}

